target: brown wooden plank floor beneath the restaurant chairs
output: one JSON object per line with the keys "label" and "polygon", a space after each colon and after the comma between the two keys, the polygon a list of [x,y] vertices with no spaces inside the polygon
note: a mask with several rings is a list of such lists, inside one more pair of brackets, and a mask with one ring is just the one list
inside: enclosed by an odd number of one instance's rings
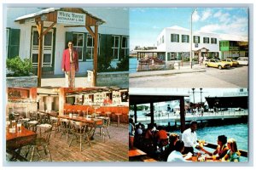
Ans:
{"label": "brown wooden plank floor beneath the restaurant chairs", "polygon": [[[106,136],[105,143],[100,136],[99,129],[96,129],[94,140],[89,144],[82,145],[82,151],[79,150],[79,142],[73,141],[68,147],[65,136],[57,133],[54,137],[54,132],[51,135],[49,150],[52,156],[52,161],[129,161],[129,136],[128,125],[122,124],[121,127],[116,127],[113,124],[108,129],[111,139]],[[26,148],[21,150],[26,152]],[[22,154],[22,153],[21,153]],[[33,161],[49,161],[49,156],[45,156],[44,151],[34,154]],[[27,159],[31,157],[31,151]]]}

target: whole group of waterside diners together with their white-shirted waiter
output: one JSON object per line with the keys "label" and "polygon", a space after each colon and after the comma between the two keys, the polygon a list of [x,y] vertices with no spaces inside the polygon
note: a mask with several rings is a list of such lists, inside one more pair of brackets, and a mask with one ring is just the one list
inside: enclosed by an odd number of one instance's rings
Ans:
{"label": "whole group of waterside diners together with their white-shirted waiter", "polygon": [[129,122],[130,148],[137,147],[159,161],[192,161],[193,157],[198,159],[200,156],[204,156],[204,161],[240,161],[236,140],[227,139],[225,135],[218,136],[218,146],[214,151],[207,150],[205,141],[197,139],[196,121],[189,123],[181,138],[177,133],[167,133],[162,126],[156,128],[148,124],[145,128],[142,123],[135,125],[132,119]]}

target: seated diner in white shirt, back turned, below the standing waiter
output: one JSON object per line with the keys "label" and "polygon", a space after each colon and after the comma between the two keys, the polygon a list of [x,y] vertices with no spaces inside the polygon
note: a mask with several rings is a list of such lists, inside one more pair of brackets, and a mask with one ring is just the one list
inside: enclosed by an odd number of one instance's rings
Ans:
{"label": "seated diner in white shirt, back turned, below the standing waiter", "polygon": [[182,154],[183,150],[184,150],[183,141],[177,140],[176,144],[174,145],[174,150],[168,156],[167,161],[186,161],[183,158],[183,154]]}

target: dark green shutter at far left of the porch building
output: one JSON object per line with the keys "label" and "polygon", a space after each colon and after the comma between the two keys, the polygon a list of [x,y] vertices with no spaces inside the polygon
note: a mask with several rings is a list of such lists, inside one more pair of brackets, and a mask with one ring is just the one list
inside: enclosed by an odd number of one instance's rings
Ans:
{"label": "dark green shutter at far left of the porch building", "polygon": [[20,29],[9,29],[8,58],[13,58],[15,56],[18,56],[19,50],[20,50]]}

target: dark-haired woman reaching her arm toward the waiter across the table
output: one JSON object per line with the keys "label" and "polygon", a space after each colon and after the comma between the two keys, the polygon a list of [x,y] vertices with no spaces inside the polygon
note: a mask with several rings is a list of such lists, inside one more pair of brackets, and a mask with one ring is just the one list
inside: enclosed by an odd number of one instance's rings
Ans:
{"label": "dark-haired woman reaching her arm toward the waiter across the table", "polygon": [[[215,158],[214,159],[222,159],[227,151],[229,150],[228,146],[226,145],[227,143],[227,137],[225,135],[220,135],[218,136],[218,146],[216,148],[216,150],[214,150],[212,153],[205,150],[203,147],[200,146],[200,149],[202,151],[204,151],[205,153],[207,153],[209,156],[214,156]],[[210,157],[210,158],[212,158]]]}

